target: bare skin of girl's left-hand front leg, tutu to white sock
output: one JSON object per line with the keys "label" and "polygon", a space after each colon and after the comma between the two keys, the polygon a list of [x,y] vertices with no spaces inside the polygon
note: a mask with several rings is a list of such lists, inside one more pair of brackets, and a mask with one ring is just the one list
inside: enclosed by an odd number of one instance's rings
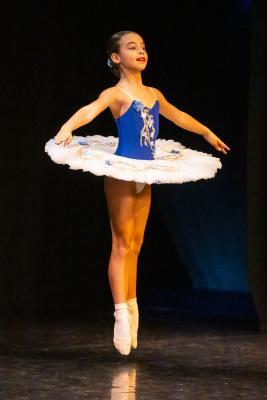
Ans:
{"label": "bare skin of girl's left-hand front leg, tutu to white sock", "polygon": [[135,182],[105,177],[104,191],[112,231],[112,251],[108,276],[114,303],[121,303],[127,300],[128,268],[126,260],[130,253],[134,228],[136,186]]}

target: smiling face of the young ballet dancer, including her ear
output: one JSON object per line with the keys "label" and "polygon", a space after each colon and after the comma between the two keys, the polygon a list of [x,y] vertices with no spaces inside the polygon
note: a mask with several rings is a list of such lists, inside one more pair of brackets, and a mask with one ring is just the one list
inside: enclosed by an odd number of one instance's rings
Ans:
{"label": "smiling face of the young ballet dancer, including her ear", "polygon": [[125,34],[120,40],[119,53],[112,53],[111,58],[122,69],[143,71],[148,62],[143,38],[137,33]]}

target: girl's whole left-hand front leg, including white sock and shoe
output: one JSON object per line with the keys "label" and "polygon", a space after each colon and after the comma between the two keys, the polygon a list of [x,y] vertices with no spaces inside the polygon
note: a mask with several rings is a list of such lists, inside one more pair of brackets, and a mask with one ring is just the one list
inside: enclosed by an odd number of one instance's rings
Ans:
{"label": "girl's whole left-hand front leg, including white sock and shoe", "polygon": [[112,231],[108,275],[115,306],[113,343],[121,354],[128,355],[131,351],[131,325],[126,303],[128,291],[126,260],[130,252],[134,227],[136,185],[135,182],[105,177],[104,190]]}

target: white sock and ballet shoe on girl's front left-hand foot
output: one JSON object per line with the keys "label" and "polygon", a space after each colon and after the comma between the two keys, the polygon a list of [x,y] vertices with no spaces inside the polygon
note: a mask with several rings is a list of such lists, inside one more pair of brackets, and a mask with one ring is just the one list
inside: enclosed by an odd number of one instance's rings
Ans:
{"label": "white sock and ballet shoe on girl's front left-hand foot", "polygon": [[[113,343],[119,353],[128,355],[131,351],[131,326],[128,314],[128,309],[115,310],[113,313],[115,317]],[[124,331],[126,333],[125,339],[118,337],[116,333],[117,324],[125,324]]]}

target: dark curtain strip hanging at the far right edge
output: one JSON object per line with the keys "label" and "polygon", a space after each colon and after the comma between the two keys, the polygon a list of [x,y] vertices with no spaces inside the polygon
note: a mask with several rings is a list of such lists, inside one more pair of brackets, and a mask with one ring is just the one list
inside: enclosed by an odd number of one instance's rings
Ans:
{"label": "dark curtain strip hanging at the far right edge", "polygon": [[255,306],[267,331],[267,87],[266,2],[254,0],[247,141],[247,257]]}

